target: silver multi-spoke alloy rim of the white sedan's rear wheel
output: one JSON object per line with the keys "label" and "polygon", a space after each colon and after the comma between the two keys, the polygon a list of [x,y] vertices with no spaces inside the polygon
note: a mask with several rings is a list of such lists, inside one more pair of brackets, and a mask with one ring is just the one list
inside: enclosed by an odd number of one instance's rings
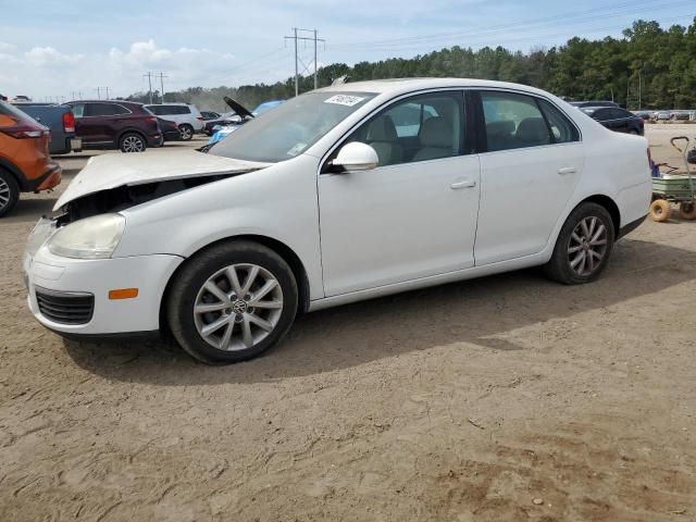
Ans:
{"label": "silver multi-spoke alloy rim of the white sedan's rear wheel", "polygon": [[607,226],[599,217],[588,216],[577,223],[568,245],[568,261],[575,275],[588,277],[599,269],[608,238]]}

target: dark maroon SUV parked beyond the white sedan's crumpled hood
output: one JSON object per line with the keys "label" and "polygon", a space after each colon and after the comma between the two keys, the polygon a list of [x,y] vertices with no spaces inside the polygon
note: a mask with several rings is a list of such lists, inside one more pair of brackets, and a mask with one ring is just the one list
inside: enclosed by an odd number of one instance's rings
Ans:
{"label": "dark maroon SUV parked beyond the white sedan's crumpled hood", "polygon": [[142,103],[86,100],[67,103],[75,114],[75,134],[84,149],[121,149],[142,152],[162,145],[157,117]]}

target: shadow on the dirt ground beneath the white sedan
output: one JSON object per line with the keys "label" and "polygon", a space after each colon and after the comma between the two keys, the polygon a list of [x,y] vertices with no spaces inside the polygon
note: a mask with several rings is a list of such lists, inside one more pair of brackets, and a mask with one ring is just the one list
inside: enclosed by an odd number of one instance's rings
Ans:
{"label": "shadow on the dirt ground beneath the white sedan", "polygon": [[[604,276],[563,286],[539,270],[489,276],[374,299],[299,318],[264,357],[228,366],[195,362],[172,344],[65,340],[82,368],[158,385],[254,383],[331,372],[452,343],[520,350],[517,328],[611,307],[696,278],[696,252],[624,239]],[[620,328],[620,325],[618,325]]]}

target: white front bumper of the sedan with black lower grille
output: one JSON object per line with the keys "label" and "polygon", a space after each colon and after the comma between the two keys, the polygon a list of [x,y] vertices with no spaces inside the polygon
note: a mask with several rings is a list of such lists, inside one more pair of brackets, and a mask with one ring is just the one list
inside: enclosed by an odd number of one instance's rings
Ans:
{"label": "white front bumper of the sedan with black lower grille", "polygon": [[[160,328],[162,296],[183,258],[62,258],[46,246],[55,231],[54,220],[40,220],[23,261],[28,307],[39,323],[66,337],[86,338]],[[137,297],[110,298],[112,290],[122,288],[137,288]]]}

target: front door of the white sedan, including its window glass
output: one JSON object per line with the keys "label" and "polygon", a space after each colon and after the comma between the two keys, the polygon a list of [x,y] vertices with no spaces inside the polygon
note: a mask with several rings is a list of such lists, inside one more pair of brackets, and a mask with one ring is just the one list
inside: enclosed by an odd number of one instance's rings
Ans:
{"label": "front door of the white sedan, including its window glass", "polygon": [[477,156],[467,156],[464,97],[444,90],[390,104],[345,144],[376,169],[319,176],[327,297],[473,266]]}

